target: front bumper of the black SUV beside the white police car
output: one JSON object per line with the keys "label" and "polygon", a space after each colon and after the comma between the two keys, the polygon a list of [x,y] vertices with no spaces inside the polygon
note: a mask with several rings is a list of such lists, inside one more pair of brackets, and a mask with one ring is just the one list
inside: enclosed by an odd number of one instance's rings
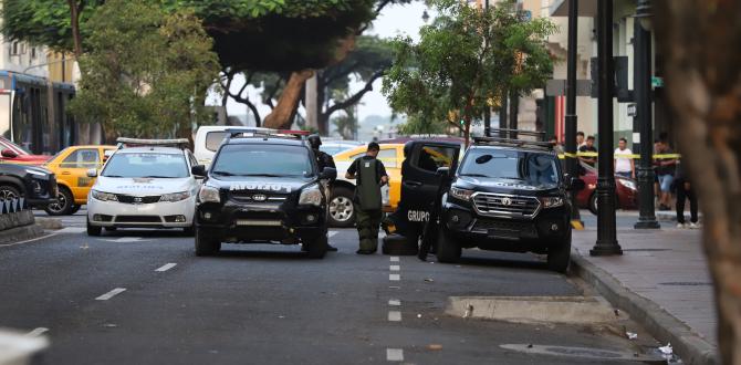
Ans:
{"label": "front bumper of the black SUV beside the white police car", "polygon": [[223,242],[299,243],[326,234],[326,208],[207,202],[196,209],[196,227]]}

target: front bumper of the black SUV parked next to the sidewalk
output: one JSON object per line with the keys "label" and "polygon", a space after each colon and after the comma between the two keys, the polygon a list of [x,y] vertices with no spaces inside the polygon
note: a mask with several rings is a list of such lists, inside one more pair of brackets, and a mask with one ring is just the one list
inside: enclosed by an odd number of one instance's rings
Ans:
{"label": "front bumper of the black SUV parked next to the sidewalk", "polygon": [[534,219],[511,219],[478,216],[449,204],[440,218],[446,233],[462,248],[483,250],[541,253],[561,244],[571,231],[566,206],[543,209]]}

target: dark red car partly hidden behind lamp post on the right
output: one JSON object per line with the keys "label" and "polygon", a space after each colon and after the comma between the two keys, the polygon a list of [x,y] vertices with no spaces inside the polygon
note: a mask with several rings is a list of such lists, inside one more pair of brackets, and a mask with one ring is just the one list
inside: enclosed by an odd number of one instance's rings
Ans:
{"label": "dark red car partly hidden behind lamp post on the right", "polygon": [[[576,195],[576,205],[580,208],[587,208],[594,215],[597,213],[597,169],[582,164],[585,187]],[[636,180],[615,176],[615,191],[617,192],[618,209],[636,209],[638,207],[638,188]]]}

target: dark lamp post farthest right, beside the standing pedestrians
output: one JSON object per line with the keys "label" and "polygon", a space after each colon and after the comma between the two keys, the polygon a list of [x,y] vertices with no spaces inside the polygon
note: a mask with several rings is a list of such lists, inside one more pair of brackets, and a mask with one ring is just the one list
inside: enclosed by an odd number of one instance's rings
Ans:
{"label": "dark lamp post farthest right, beside the standing pedestrians", "polygon": [[[638,208],[640,216],[634,226],[636,229],[661,228],[656,221],[654,207],[654,148],[651,139],[653,111],[651,111],[651,33],[650,9],[648,0],[638,0],[635,15],[635,95],[637,104],[638,131],[640,132],[640,160],[636,168],[638,182]],[[634,128],[635,131],[635,128]]]}

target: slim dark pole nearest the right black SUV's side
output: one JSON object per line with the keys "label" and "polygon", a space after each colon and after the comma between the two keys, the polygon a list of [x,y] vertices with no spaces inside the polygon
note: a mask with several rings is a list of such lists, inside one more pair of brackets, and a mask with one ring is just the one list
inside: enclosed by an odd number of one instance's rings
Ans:
{"label": "slim dark pole nearest the right black SUV's side", "polygon": [[[566,63],[566,115],[564,117],[566,132],[566,173],[578,177],[578,159],[576,158],[576,42],[578,30],[578,0],[568,0],[568,54]],[[572,202],[571,220],[582,221],[576,204],[576,192],[568,194]]]}

